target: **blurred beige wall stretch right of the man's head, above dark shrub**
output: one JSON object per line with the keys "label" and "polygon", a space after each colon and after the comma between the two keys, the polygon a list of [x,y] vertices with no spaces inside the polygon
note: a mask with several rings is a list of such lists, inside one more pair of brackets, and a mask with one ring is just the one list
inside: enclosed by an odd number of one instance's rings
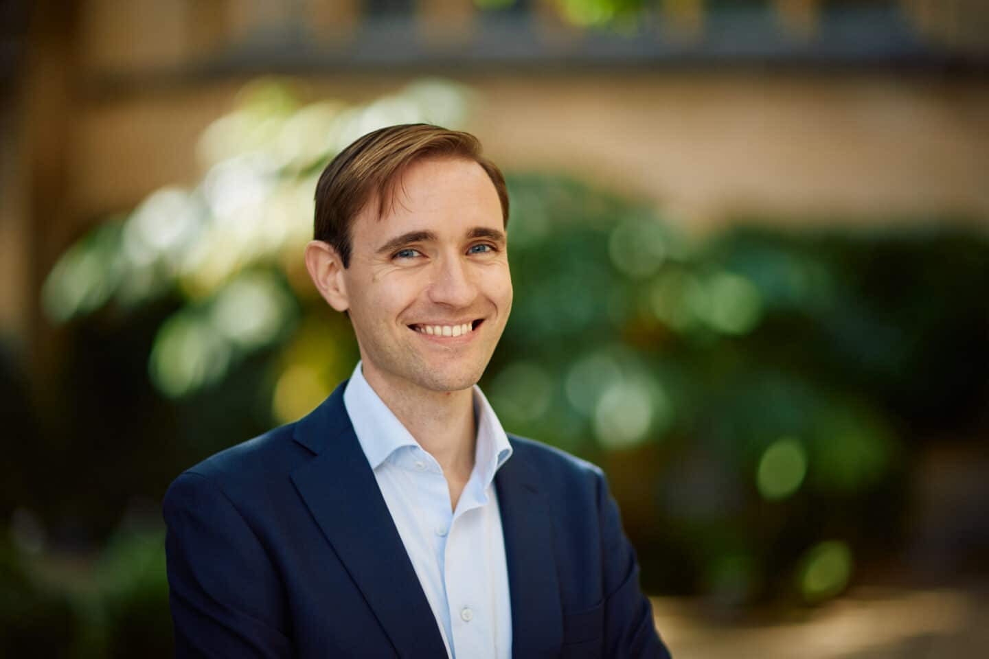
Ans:
{"label": "blurred beige wall stretch right of the man's head, above dark shrub", "polygon": [[723,73],[480,89],[476,127],[503,161],[593,177],[676,221],[989,218],[989,88],[975,81]]}

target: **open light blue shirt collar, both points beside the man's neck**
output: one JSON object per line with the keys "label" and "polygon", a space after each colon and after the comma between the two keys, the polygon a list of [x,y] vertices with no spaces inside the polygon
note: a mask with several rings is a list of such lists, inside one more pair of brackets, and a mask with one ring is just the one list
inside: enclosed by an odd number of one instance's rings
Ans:
{"label": "open light blue shirt collar, both points beside the man's neck", "polygon": [[[364,378],[361,366],[362,363],[358,362],[347,382],[343,391],[343,404],[361,449],[371,468],[377,469],[399,449],[419,448],[419,445],[371,388]],[[487,486],[494,480],[498,468],[511,456],[512,450],[494,409],[477,385],[474,386],[474,418],[478,426],[474,470]]]}

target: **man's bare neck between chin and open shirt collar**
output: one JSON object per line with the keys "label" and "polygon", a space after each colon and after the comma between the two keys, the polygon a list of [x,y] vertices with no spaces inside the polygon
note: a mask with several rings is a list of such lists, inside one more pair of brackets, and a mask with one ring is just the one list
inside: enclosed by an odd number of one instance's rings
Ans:
{"label": "man's bare neck between chin and open shirt collar", "polygon": [[458,391],[409,390],[391,385],[387,378],[363,370],[364,378],[392,410],[405,430],[429,453],[448,478],[466,481],[474,468],[477,431],[472,388]]}

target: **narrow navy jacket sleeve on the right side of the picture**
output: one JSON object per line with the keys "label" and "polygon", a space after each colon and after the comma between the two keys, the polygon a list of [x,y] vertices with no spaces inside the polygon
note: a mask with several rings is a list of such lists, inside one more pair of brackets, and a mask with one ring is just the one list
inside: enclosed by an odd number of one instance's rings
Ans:
{"label": "narrow navy jacket sleeve on the right side of the picture", "polygon": [[618,505],[603,475],[598,479],[597,497],[604,560],[604,654],[670,659],[656,630],[653,608],[639,588],[635,549],[622,531]]}

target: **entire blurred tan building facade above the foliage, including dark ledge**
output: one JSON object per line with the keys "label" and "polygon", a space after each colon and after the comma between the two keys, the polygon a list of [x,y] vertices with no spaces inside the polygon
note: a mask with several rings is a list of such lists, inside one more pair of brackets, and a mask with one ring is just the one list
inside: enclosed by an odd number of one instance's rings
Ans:
{"label": "entire blurred tan building facade above the foliage, including dark ledge", "polygon": [[56,256],[195,179],[198,135],[259,74],[344,101],[442,75],[474,90],[468,128],[506,168],[593,179],[697,228],[989,217],[981,0],[0,6],[0,327],[36,360]]}

